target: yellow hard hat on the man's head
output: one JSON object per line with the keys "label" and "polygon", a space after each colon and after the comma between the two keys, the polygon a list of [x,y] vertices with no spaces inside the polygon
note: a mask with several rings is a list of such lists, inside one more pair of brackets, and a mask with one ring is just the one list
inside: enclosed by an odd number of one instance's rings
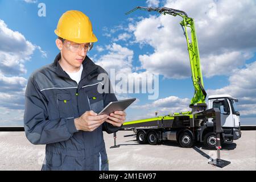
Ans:
{"label": "yellow hard hat on the man's head", "polygon": [[81,11],[70,10],[59,19],[54,31],[57,36],[75,43],[93,43],[98,39],[93,34],[92,23]]}

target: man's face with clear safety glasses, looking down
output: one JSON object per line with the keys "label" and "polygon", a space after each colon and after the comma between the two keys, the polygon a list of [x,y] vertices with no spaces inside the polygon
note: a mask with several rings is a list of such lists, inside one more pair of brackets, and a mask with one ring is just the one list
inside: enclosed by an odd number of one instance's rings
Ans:
{"label": "man's face with clear safety glasses, looking down", "polygon": [[89,43],[79,44],[69,40],[61,41],[62,56],[64,61],[73,68],[79,68],[84,61],[86,53],[89,49]]}

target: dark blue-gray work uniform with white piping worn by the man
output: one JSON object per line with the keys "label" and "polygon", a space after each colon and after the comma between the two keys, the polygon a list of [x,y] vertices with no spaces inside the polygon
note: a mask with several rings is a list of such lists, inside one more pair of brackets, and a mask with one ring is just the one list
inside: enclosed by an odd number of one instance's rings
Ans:
{"label": "dark blue-gray work uniform with white piping worn by the man", "polygon": [[[77,131],[74,118],[85,111],[98,113],[111,101],[114,93],[98,93],[97,80],[106,71],[88,56],[81,81],[77,84],[59,65],[60,53],[54,63],[32,73],[25,94],[24,129],[33,144],[46,144],[42,170],[108,170],[108,157],[102,131],[120,129],[104,122],[96,130]],[[109,91],[111,88],[109,82]]]}

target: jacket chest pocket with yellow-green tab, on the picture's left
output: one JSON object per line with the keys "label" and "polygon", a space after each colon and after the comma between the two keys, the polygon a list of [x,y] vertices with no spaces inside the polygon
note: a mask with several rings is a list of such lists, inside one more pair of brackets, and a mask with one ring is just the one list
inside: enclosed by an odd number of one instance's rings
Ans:
{"label": "jacket chest pocket with yellow-green tab, on the picture's left", "polygon": [[73,117],[73,105],[70,93],[57,93],[57,105],[59,107],[60,118]]}

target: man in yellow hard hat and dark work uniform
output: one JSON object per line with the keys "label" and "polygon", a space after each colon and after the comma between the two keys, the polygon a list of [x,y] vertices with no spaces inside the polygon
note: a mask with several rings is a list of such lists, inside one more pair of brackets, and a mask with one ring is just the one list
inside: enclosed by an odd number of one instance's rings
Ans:
{"label": "man in yellow hard hat and dark work uniform", "polygon": [[106,71],[86,56],[97,42],[92,24],[81,11],[67,11],[55,34],[60,53],[28,80],[26,137],[33,144],[46,144],[42,170],[108,170],[102,131],[118,131],[126,113],[96,114],[117,98],[111,92],[98,92],[99,85],[109,91],[111,85],[97,80]]}

